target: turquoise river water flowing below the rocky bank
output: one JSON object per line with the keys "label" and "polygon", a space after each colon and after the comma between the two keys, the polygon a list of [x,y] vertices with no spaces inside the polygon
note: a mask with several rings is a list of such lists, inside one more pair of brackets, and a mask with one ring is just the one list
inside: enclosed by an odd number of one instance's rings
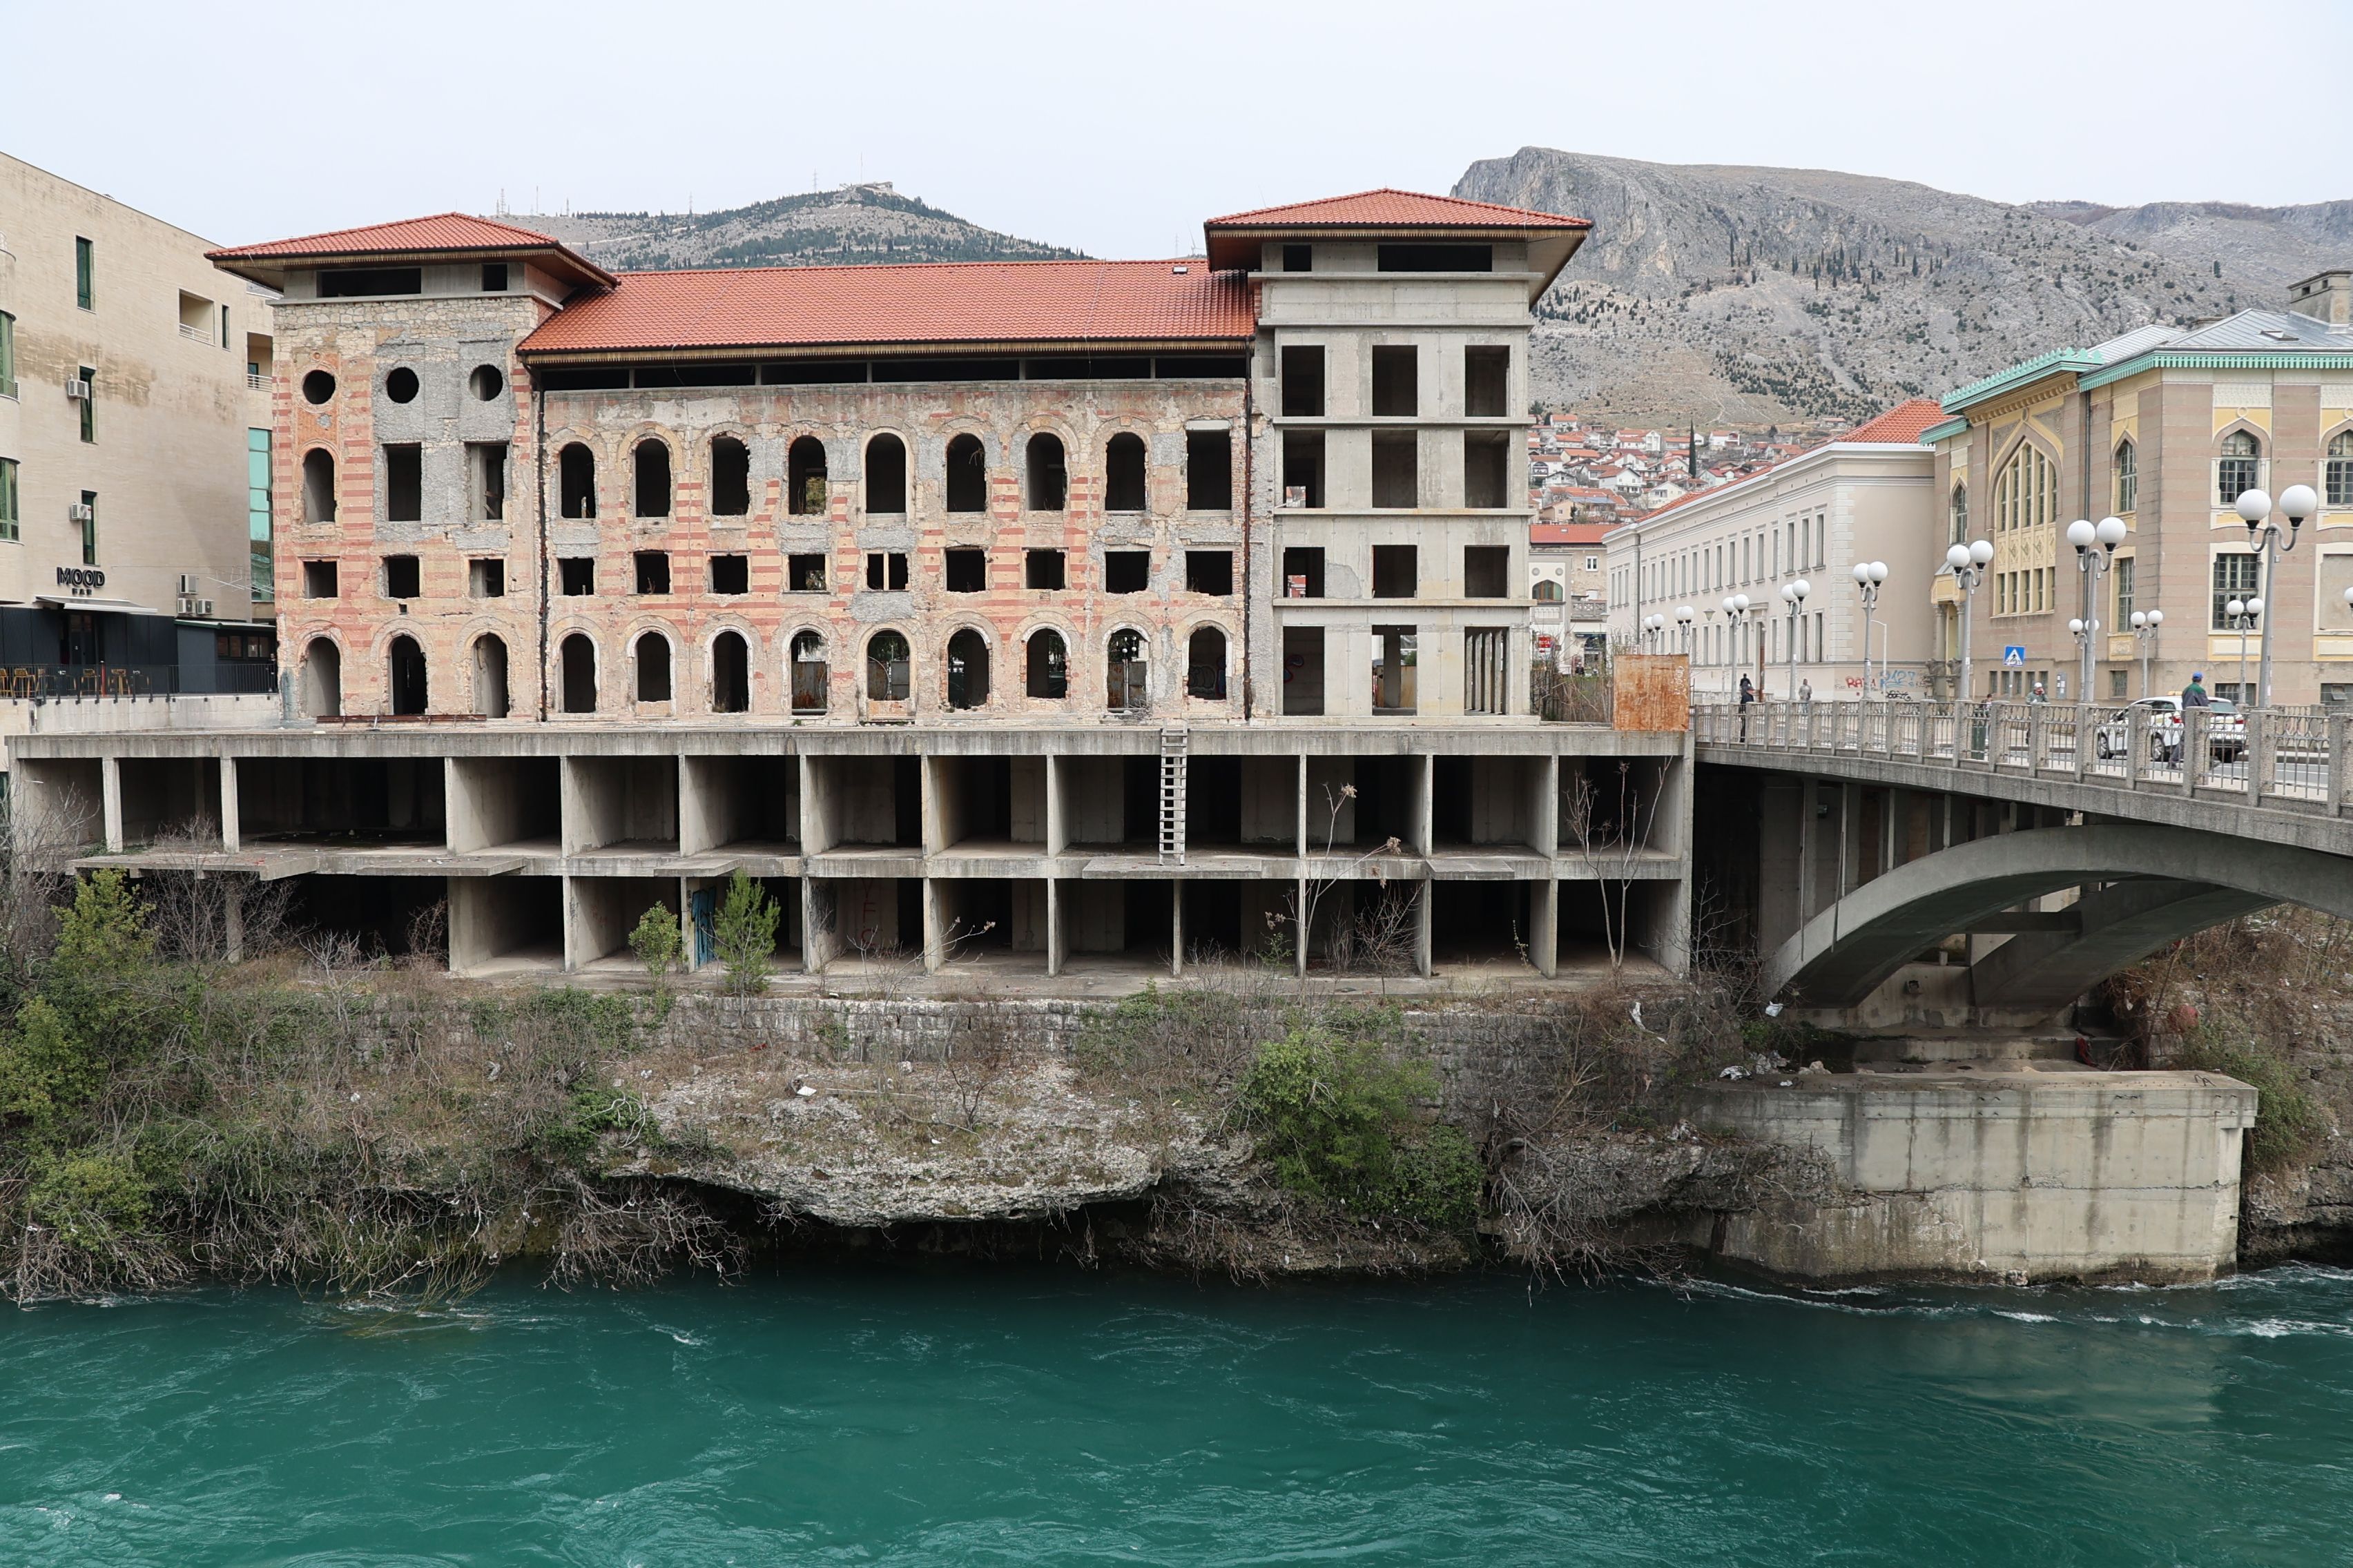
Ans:
{"label": "turquoise river water flowing below the rocky bank", "polygon": [[0,1309],[0,1563],[2353,1563],[2353,1274]]}

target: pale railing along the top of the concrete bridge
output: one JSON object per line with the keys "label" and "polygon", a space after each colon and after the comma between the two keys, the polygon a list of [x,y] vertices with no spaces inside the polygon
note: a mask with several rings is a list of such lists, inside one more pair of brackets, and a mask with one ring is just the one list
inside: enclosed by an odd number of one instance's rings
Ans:
{"label": "pale railing along the top of the concrete bridge", "polygon": [[2322,708],[2151,715],[2115,703],[1694,703],[1701,745],[1887,757],[2118,790],[2353,813],[2353,715]]}

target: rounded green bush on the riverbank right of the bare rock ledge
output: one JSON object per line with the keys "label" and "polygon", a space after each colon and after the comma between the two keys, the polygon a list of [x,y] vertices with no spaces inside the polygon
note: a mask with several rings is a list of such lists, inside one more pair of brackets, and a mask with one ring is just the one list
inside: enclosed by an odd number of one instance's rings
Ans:
{"label": "rounded green bush on the riverbank right of the bare rock ledge", "polygon": [[1426,1063],[1398,1063],[1377,1041],[1304,1027],[1259,1046],[1240,1107],[1289,1192],[1362,1218],[1468,1229],[1480,1161],[1461,1128],[1414,1114],[1414,1100],[1433,1091]]}

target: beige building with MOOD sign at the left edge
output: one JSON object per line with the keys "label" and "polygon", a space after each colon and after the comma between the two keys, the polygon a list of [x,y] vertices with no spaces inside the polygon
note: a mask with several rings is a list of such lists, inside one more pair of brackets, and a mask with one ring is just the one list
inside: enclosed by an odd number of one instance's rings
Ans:
{"label": "beige building with MOOD sign at the left edge", "polygon": [[207,249],[0,155],[7,696],[273,679],[271,294]]}

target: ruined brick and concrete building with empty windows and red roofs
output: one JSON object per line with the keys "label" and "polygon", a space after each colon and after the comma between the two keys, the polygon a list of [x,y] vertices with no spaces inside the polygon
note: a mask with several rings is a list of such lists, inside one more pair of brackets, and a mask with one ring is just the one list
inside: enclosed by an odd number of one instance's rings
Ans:
{"label": "ruined brick and concrete building with empty windows and red roofs", "polygon": [[216,825],[393,945],[447,898],[475,973],[626,961],[656,903],[706,959],[736,870],[812,971],[1551,973],[1607,936],[1565,806],[1607,769],[1673,959],[1682,738],[1529,712],[1529,306],[1586,228],[1374,190],[1191,261],[609,275],[461,214],[216,252],[282,289],[289,722],[42,741],[26,788],[134,863]]}

